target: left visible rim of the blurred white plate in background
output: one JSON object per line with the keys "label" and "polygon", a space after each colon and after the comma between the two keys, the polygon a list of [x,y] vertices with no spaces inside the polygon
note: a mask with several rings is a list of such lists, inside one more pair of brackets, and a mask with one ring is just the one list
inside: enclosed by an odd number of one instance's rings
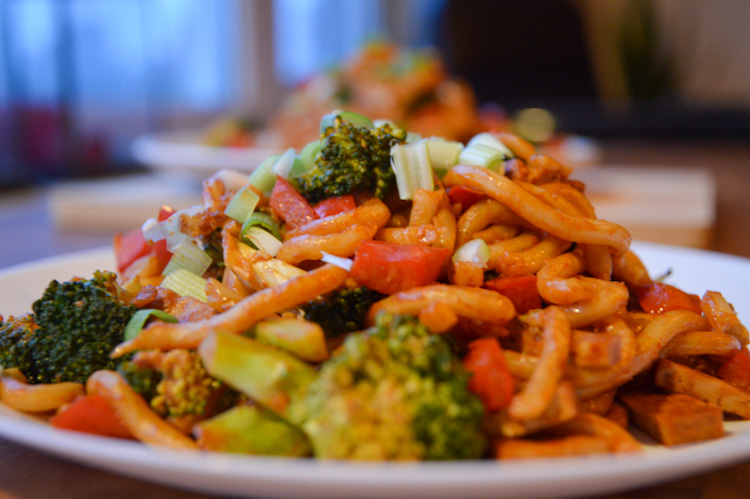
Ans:
{"label": "left visible rim of the blurred white plate in background", "polygon": [[133,141],[133,158],[154,172],[202,181],[226,168],[251,172],[279,151],[252,147],[214,147],[201,144],[200,131],[177,130],[143,135]]}

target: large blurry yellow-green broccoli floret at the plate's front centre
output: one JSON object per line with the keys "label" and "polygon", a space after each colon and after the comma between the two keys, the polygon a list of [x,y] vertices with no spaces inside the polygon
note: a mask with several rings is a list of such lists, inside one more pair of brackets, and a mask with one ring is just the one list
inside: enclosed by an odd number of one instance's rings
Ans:
{"label": "large blurry yellow-green broccoli floret at the plate's front centre", "polygon": [[323,365],[303,428],[321,458],[480,458],[484,409],[467,381],[442,337],[415,318],[381,313]]}

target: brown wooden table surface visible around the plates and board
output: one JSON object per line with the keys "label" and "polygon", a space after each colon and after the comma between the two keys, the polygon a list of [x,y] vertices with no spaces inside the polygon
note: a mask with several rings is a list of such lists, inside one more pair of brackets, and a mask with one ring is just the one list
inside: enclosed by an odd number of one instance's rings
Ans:
{"label": "brown wooden table surface visible around the plates and board", "polygon": [[[716,175],[717,220],[710,248],[750,257],[750,144],[740,142],[606,142],[605,163],[701,166]],[[106,234],[54,231],[39,190],[0,193],[0,267],[105,245]],[[8,243],[12,239],[13,243]],[[719,471],[610,495],[610,498],[744,497],[750,459]],[[501,493],[501,491],[499,491]],[[192,494],[51,457],[0,439],[0,499],[56,497],[211,497]]]}

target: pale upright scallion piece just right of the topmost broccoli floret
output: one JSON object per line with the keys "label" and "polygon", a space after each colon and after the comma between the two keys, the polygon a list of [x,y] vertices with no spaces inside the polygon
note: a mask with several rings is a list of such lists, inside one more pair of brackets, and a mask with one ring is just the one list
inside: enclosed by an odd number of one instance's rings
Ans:
{"label": "pale upright scallion piece just right of the topmost broccoli floret", "polygon": [[435,189],[432,162],[425,141],[391,147],[391,167],[396,174],[401,199],[414,198],[419,189]]}

